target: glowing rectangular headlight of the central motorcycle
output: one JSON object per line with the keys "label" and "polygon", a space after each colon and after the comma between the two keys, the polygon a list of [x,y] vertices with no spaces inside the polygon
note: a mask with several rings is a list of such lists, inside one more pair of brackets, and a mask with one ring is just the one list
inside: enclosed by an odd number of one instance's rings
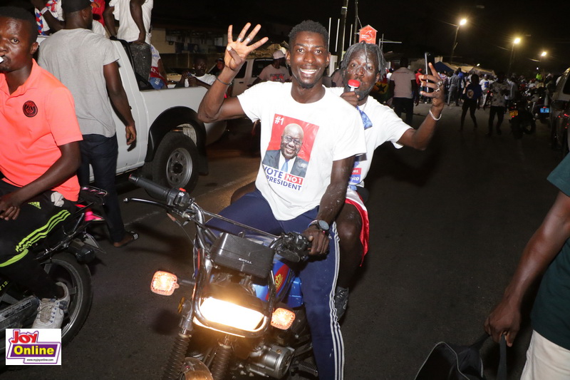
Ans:
{"label": "glowing rectangular headlight of the central motorcycle", "polygon": [[204,299],[200,305],[200,312],[209,322],[224,324],[248,332],[256,331],[264,319],[264,315],[257,310],[214,297]]}

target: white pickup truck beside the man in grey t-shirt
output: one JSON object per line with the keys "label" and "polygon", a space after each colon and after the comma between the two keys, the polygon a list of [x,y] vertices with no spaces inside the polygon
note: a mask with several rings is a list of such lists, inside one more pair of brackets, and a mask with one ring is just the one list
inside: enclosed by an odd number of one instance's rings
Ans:
{"label": "white pickup truck beside the man in grey t-shirt", "polygon": [[[38,42],[44,38],[49,37],[40,36]],[[226,123],[198,120],[198,106],[206,93],[203,87],[155,90],[150,83],[138,81],[128,44],[112,42],[137,127],[136,143],[126,145],[124,123],[114,113],[119,143],[117,174],[141,168],[142,175],[161,185],[192,191],[198,175],[208,173],[205,147],[224,133]]]}

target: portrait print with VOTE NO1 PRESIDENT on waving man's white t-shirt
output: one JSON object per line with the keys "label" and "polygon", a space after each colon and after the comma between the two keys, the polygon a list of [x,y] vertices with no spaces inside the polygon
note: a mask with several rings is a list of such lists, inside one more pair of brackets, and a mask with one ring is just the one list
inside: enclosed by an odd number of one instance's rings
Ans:
{"label": "portrait print with VOTE NO1 PRESIDENT on waving man's white t-shirt", "polygon": [[271,139],[262,162],[269,183],[302,190],[317,131],[318,125],[274,115]]}

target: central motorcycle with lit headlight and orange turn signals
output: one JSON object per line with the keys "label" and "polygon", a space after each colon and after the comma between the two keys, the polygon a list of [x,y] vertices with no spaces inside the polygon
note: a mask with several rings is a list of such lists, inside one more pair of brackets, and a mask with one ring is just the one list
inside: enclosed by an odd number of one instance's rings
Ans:
{"label": "central motorcycle with lit headlight and orange turn signals", "polygon": [[[283,379],[301,372],[318,376],[311,362],[301,280],[293,268],[308,255],[306,237],[296,232],[274,236],[203,210],[184,190],[135,175],[130,181],[160,202],[125,202],[162,207],[196,227],[192,277],[158,271],[150,286],[165,296],[187,287],[178,309],[180,330],[162,379]],[[243,230],[239,235],[216,234],[205,217]]]}

